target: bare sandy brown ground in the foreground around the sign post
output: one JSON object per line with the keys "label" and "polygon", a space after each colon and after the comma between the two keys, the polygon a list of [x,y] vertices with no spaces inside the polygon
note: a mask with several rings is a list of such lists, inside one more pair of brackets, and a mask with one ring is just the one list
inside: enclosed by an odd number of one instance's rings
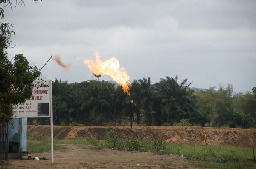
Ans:
{"label": "bare sandy brown ground in the foreground around the sign post", "polygon": [[[113,150],[88,145],[64,145],[54,152],[51,160],[9,160],[9,169],[182,169],[168,164],[188,164],[192,161],[176,155],[155,155],[149,152]],[[34,153],[32,157],[46,157],[51,153]]]}

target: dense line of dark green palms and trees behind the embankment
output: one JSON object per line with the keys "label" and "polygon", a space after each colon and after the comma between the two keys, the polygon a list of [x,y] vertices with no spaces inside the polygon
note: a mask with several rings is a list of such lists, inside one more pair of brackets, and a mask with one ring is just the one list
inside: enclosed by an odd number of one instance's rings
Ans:
{"label": "dense line of dark green palms and trees behind the embankment", "polygon": [[[130,93],[108,81],[53,82],[55,125],[195,125],[255,127],[256,87],[233,95],[233,86],[191,89],[187,79],[134,80]],[[132,101],[131,101],[132,100]],[[185,122],[185,123],[184,123]],[[47,124],[49,119],[30,119]]]}

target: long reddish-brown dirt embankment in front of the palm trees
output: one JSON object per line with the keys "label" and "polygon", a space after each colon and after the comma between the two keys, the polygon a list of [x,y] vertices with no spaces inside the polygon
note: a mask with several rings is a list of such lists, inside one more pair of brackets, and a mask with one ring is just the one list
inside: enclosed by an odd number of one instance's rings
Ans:
{"label": "long reddish-brown dirt embankment in front of the palm trees", "polygon": [[[256,129],[208,128],[195,126],[54,126],[54,137],[74,139],[93,134],[102,140],[111,129],[126,134],[156,134],[166,142],[209,143],[209,145],[255,146]],[[50,136],[50,126],[28,126],[28,132],[39,137]]]}

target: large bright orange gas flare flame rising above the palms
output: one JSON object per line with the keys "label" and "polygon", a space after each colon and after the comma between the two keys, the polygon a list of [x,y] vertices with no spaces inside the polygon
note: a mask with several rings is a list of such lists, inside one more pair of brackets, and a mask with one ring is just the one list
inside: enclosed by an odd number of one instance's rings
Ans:
{"label": "large bright orange gas flare flame rising above the palms", "polygon": [[119,61],[113,57],[109,60],[102,61],[97,52],[95,52],[96,61],[84,60],[84,64],[88,66],[90,72],[97,75],[109,75],[116,83],[122,86],[127,95],[130,95],[131,82],[130,77],[123,67],[120,68]]}

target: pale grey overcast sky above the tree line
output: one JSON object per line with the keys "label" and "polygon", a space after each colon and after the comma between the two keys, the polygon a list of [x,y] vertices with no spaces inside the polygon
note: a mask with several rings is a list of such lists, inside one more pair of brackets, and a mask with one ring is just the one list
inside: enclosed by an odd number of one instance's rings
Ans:
{"label": "pale grey overcast sky above the tree line", "polygon": [[56,54],[72,64],[65,72],[50,60],[41,71],[47,79],[90,80],[82,60],[99,52],[102,60],[116,57],[131,81],[177,75],[206,89],[256,86],[255,0],[24,1],[5,8],[4,21],[16,33],[8,52],[23,53],[38,68]]}

